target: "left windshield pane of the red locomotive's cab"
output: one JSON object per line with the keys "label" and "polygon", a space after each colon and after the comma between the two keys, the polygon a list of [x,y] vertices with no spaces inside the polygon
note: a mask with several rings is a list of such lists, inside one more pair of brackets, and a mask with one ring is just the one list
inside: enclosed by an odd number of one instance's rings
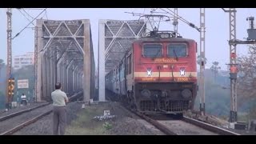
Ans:
{"label": "left windshield pane of the red locomotive's cab", "polygon": [[143,56],[146,58],[162,57],[162,45],[161,44],[145,44],[143,46]]}

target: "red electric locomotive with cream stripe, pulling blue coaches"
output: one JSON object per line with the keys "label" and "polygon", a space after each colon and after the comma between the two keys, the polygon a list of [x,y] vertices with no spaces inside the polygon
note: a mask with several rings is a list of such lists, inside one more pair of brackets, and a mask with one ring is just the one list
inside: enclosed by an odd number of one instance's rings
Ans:
{"label": "red electric locomotive with cream stripe, pulling blue coaches", "polygon": [[197,43],[176,33],[152,31],[133,42],[106,74],[106,89],[144,114],[181,114],[197,95]]}

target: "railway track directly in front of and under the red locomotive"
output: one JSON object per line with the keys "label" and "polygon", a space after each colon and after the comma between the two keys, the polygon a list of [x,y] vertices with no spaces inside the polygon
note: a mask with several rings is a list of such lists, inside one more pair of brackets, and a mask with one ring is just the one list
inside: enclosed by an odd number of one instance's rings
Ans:
{"label": "railway track directly in front of and under the red locomotive", "polygon": [[138,117],[146,120],[166,135],[240,135],[230,130],[222,129],[218,126],[210,125],[206,122],[200,122],[193,118],[183,117],[179,120],[173,118],[150,118],[145,114],[138,113],[137,111],[130,110],[124,106],[126,110],[138,115]]}

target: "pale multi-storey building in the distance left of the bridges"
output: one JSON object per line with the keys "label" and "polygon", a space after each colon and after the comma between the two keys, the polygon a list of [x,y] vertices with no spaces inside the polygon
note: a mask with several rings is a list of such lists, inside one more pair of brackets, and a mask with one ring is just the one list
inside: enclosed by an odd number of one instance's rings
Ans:
{"label": "pale multi-storey building in the distance left of the bridges", "polygon": [[22,68],[22,66],[34,65],[34,52],[27,52],[23,55],[14,56],[14,70]]}

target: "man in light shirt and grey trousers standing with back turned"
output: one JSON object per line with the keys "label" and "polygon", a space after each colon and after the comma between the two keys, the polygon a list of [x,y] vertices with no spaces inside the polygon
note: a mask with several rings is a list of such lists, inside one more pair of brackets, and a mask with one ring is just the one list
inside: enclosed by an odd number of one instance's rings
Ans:
{"label": "man in light shirt and grey trousers standing with back turned", "polygon": [[[69,99],[66,93],[61,90],[62,86],[60,82],[55,84],[55,91],[51,93],[51,98],[53,99],[54,106],[54,135],[58,135],[58,129],[60,134],[65,134],[66,128],[66,102]],[[59,126],[59,128],[58,128]]]}

